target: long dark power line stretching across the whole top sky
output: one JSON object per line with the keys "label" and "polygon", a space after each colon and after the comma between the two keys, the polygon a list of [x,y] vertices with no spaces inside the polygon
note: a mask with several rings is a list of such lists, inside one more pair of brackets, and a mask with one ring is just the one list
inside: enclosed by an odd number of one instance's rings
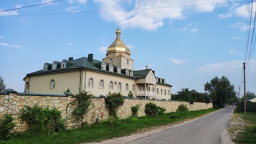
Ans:
{"label": "long dark power line stretching across the whole top sky", "polygon": [[[62,0],[61,0],[61,1],[62,1]],[[215,3],[215,4],[164,6],[164,7],[149,7],[149,8],[141,8],[141,9],[106,10],[106,11],[42,13],[42,14],[23,14],[23,15],[8,15],[8,16],[6,15],[6,16],[0,16],[0,17],[21,17],[21,16],[32,16],[32,15],[53,15],[53,14],[73,14],[73,13],[96,13],[96,12],[116,12],[116,11],[133,11],[133,10],[152,10],[152,9],[166,9],[166,8],[174,8],[174,7],[205,6],[205,5],[222,5],[222,4],[237,4],[237,3],[249,3],[249,2],[230,2],[230,3]]]}

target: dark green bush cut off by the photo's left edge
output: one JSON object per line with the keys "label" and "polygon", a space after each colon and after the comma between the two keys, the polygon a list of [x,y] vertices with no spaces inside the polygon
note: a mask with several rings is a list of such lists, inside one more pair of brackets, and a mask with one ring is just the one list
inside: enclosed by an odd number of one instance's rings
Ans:
{"label": "dark green bush cut off by the photo's left edge", "polygon": [[0,119],[0,140],[8,140],[14,126],[13,117],[10,114],[4,114]]}

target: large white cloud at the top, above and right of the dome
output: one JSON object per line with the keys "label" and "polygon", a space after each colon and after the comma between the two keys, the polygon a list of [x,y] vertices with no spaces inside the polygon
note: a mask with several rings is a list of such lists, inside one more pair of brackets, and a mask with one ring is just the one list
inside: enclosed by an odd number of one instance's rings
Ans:
{"label": "large white cloud at the top, above and right of the dome", "polygon": [[[227,0],[212,0],[207,1],[207,4],[218,4],[226,2]],[[120,26],[123,28],[142,28],[145,30],[157,30],[158,27],[163,26],[163,20],[179,20],[185,19],[187,14],[212,12],[218,5],[204,5],[204,6],[183,6],[182,5],[200,5],[205,4],[206,1],[116,1],[116,0],[94,0],[97,3],[100,11],[109,11],[99,13],[102,19],[109,22],[120,21]],[[147,9],[147,10],[125,10],[123,7],[128,4],[129,9]],[[152,7],[170,7],[164,9],[148,9]],[[113,11],[117,10],[117,11]]]}

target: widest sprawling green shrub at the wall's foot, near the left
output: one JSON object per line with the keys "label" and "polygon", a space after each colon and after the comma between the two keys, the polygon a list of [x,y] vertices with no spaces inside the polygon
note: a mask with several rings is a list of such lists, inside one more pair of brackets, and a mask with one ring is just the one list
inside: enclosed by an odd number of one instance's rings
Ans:
{"label": "widest sprawling green shrub at the wall's foot, near the left", "polygon": [[20,110],[19,118],[29,124],[28,131],[34,134],[52,134],[65,128],[61,112],[57,108],[25,106]]}

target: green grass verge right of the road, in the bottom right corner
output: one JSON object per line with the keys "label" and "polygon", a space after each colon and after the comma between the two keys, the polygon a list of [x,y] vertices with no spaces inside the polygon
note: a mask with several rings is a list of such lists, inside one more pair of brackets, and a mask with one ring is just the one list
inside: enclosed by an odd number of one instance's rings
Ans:
{"label": "green grass verge right of the road, in the bottom right corner", "polygon": [[239,132],[233,141],[236,143],[256,143],[256,113],[243,113],[238,108],[234,110],[234,113],[243,118],[246,126],[244,132]]}

